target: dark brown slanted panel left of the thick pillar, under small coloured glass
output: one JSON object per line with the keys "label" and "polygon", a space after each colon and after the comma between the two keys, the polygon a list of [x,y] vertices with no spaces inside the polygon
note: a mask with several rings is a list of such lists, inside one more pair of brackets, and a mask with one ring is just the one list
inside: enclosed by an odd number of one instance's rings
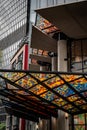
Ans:
{"label": "dark brown slanted panel left of the thick pillar, under small coloured glass", "polygon": [[33,26],[31,47],[56,52],[57,42],[45,33],[41,32],[37,27]]}

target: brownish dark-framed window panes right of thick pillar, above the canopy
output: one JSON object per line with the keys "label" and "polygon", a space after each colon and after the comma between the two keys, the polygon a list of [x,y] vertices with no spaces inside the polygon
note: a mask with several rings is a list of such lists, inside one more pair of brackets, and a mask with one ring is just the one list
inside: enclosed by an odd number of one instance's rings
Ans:
{"label": "brownish dark-framed window panes right of thick pillar, above the canopy", "polygon": [[71,71],[87,72],[87,40],[72,42],[71,52]]}

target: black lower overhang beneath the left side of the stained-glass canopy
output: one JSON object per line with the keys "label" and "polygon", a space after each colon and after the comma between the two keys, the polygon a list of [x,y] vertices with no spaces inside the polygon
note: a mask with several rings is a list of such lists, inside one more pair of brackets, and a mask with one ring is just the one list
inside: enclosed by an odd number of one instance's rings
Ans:
{"label": "black lower overhang beneath the left side of the stained-glass canopy", "polygon": [[2,99],[2,103],[5,106],[6,112],[10,115],[14,115],[16,117],[21,117],[35,122],[39,121],[38,115],[33,112],[29,113],[29,110],[23,105],[5,99]]}

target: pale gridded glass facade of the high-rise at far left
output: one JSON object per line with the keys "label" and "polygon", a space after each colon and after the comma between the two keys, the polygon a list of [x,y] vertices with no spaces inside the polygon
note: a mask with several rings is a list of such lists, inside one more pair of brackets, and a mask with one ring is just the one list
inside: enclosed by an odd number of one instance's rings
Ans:
{"label": "pale gridded glass facade of the high-rise at far left", "polygon": [[0,0],[0,49],[2,68],[10,68],[10,60],[26,35],[27,0]]}

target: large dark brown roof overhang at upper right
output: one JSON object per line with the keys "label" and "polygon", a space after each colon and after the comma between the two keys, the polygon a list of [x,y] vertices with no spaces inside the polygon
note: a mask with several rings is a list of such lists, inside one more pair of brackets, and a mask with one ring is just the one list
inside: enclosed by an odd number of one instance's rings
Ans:
{"label": "large dark brown roof overhang at upper right", "polygon": [[87,1],[36,10],[71,38],[87,38]]}

